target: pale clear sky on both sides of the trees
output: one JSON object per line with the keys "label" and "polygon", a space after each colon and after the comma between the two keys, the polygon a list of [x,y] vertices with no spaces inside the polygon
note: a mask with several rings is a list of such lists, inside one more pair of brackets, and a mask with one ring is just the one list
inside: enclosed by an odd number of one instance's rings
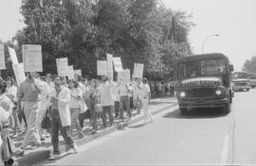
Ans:
{"label": "pale clear sky on both sides of the trees", "polygon": [[[256,56],[256,0],[163,0],[167,8],[192,13],[195,24],[189,40],[194,54],[218,52],[227,55],[242,70],[246,59]],[[0,40],[11,40],[25,25],[21,0],[0,0]]]}

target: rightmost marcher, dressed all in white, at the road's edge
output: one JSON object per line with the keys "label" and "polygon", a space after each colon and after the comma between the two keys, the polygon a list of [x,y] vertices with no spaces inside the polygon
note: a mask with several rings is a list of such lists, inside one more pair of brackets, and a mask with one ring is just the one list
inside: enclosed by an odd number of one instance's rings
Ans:
{"label": "rightmost marcher, dressed all in white, at the road's edge", "polygon": [[152,115],[149,111],[149,102],[151,97],[151,91],[147,78],[143,78],[142,85],[139,87],[143,92],[142,105],[144,109],[144,124],[153,123]]}

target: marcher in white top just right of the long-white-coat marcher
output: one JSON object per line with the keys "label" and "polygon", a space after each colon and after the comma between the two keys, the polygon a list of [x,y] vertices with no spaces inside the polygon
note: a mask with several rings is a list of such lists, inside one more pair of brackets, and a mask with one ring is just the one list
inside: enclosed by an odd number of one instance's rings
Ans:
{"label": "marcher in white top just right of the long-white-coat marcher", "polygon": [[69,103],[70,108],[70,115],[71,115],[71,126],[70,126],[70,135],[73,137],[73,130],[75,126],[79,132],[78,139],[82,139],[82,127],[78,123],[79,114],[81,112],[81,105],[82,105],[82,90],[79,87],[78,82],[75,79],[70,79],[68,82],[68,87],[71,94],[71,100]]}

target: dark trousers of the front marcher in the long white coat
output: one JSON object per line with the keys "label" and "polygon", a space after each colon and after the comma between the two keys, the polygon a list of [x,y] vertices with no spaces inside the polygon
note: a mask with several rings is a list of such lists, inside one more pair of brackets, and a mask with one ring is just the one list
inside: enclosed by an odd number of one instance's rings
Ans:
{"label": "dark trousers of the front marcher in the long white coat", "polygon": [[53,155],[60,155],[59,149],[59,130],[61,131],[62,136],[64,137],[64,141],[71,147],[74,147],[74,141],[71,139],[69,134],[70,126],[62,126],[60,114],[58,110],[52,110],[51,112],[51,142],[53,146]]}

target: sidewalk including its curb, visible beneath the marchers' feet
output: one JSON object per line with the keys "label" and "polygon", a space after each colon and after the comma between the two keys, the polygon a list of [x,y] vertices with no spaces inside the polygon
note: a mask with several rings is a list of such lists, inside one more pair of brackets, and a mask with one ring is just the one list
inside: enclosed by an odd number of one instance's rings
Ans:
{"label": "sidewalk including its curb, visible beneath the marchers' feet", "polygon": [[[158,98],[158,99],[153,99],[151,100],[150,103],[150,111],[153,115],[167,109],[167,108],[172,108],[176,105],[176,100],[174,98]],[[124,120],[124,121],[120,121],[119,119],[115,119],[115,123],[114,125],[112,125],[111,127],[107,127],[107,128],[101,128],[102,124],[101,122],[99,123],[99,130],[97,131],[97,133],[93,133],[91,130],[91,126],[89,125],[89,121],[85,120],[84,121],[84,126],[83,126],[83,134],[84,137],[80,140],[75,140],[78,147],[82,144],[85,144],[89,141],[93,141],[97,138],[103,137],[109,133],[112,133],[118,129],[121,129],[123,127],[126,127],[128,125],[134,125],[137,122],[141,121],[144,119],[143,116],[143,110],[141,111],[141,113],[139,115],[137,115],[137,112],[134,111],[133,112],[133,118],[132,120],[128,121],[128,120]],[[16,147],[20,147],[21,143],[24,139],[24,135],[19,135],[19,137],[17,139],[14,139],[14,143]],[[65,143],[63,140],[63,137],[60,136],[60,150],[62,153],[65,152]],[[46,141],[42,142],[42,145],[34,150],[27,150],[26,153],[24,154],[23,157],[13,157],[15,159],[15,165],[29,165],[29,164],[36,164],[40,161],[46,160],[49,158],[50,155],[50,151],[52,150],[52,144],[51,144],[51,140],[50,138],[47,138]]]}

